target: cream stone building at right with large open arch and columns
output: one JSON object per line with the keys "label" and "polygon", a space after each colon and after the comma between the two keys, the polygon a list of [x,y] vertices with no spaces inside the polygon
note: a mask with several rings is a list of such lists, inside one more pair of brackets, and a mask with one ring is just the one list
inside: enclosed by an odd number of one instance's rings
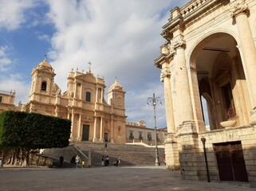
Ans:
{"label": "cream stone building at right with large open arch and columns", "polygon": [[192,0],[161,35],[167,169],[255,185],[256,2]]}

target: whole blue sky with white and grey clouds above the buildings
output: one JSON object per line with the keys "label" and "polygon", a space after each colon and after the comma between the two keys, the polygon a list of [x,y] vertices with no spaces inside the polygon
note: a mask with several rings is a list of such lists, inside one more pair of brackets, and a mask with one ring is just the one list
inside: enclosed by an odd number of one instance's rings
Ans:
{"label": "whole blue sky with white and grey clouds above the buildings", "polygon": [[47,55],[66,91],[72,68],[104,76],[106,89],[117,78],[126,91],[128,122],[154,127],[148,97],[156,93],[157,127],[166,127],[163,83],[154,60],[160,56],[162,26],[170,10],[188,0],[0,0],[0,90],[28,102],[30,73]]}

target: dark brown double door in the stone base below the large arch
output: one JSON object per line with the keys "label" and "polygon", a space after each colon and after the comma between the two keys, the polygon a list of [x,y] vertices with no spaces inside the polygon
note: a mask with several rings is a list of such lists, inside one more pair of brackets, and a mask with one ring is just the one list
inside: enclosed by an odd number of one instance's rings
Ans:
{"label": "dark brown double door in the stone base below the large arch", "polygon": [[216,143],[214,150],[220,181],[248,181],[240,141]]}

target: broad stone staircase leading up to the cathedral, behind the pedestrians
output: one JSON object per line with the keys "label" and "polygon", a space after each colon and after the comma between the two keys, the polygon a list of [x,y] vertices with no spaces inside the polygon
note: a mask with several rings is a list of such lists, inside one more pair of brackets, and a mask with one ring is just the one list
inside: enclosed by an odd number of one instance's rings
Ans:
{"label": "broad stone staircase leading up to the cathedral, behind the pedestrians", "polygon": [[[155,147],[145,147],[138,145],[126,145],[117,143],[108,143],[107,150],[105,151],[104,143],[96,142],[73,142],[65,148],[53,148],[44,150],[43,154],[52,156],[53,158],[59,158],[64,155],[65,162],[69,162],[70,159],[79,155],[81,160],[88,162],[88,158],[85,158],[79,151],[89,156],[91,154],[91,165],[101,166],[101,158],[108,155],[109,164],[112,166],[112,162],[116,162],[117,155],[120,156],[121,166],[155,166]],[[158,148],[159,158],[161,165],[164,165],[164,149]]]}

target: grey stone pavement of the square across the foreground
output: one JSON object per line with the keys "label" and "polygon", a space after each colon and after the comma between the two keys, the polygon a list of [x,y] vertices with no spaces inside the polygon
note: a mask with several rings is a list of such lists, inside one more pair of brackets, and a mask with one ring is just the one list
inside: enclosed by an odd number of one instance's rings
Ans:
{"label": "grey stone pavement of the square across the foreground", "polygon": [[0,190],[100,190],[100,191],[252,191],[249,183],[182,180],[165,166],[108,166],[84,169],[4,166]]}

